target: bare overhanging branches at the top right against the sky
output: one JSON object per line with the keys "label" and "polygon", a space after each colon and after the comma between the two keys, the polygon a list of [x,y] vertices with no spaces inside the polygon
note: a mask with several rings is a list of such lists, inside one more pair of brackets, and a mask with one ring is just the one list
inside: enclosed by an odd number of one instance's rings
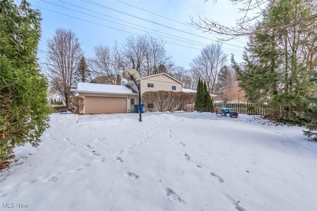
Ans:
{"label": "bare overhanging branches at the top right against the sky", "polygon": [[[206,0],[208,1],[208,0]],[[284,22],[274,26],[258,27],[258,20],[267,11],[267,4],[270,0],[230,0],[233,4],[240,4],[239,13],[242,14],[240,18],[236,20],[234,26],[226,26],[220,22],[214,21],[208,17],[202,18],[200,16],[198,21],[195,21],[191,17],[191,24],[204,32],[216,33],[219,35],[228,35],[229,39],[237,36],[249,36],[257,34],[266,34],[272,32],[280,32],[289,30],[292,27],[305,26],[307,21],[317,18],[317,13],[314,12],[306,17],[294,19],[290,22]],[[316,4],[316,0],[305,0],[307,3]],[[214,0],[214,3],[216,0]]]}

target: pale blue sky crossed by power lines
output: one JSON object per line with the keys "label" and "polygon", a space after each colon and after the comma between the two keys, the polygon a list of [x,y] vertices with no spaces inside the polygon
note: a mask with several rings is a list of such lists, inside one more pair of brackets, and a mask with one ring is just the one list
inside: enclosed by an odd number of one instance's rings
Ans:
{"label": "pale blue sky crossed by power lines", "polygon": [[[19,4],[18,0],[15,2]],[[116,40],[122,45],[129,36],[144,35],[148,32],[155,33],[152,34],[155,37],[161,37],[166,42],[165,49],[172,56],[175,65],[185,68],[189,68],[189,62],[199,55],[201,49],[217,41],[217,35],[203,33],[189,26],[187,23],[190,22],[190,16],[198,20],[200,15],[223,24],[233,25],[240,15],[238,6],[232,5],[229,0],[217,0],[216,3],[212,0],[206,2],[204,0],[28,0],[28,2],[31,3],[32,8],[38,8],[42,12],[42,39],[39,45],[41,51],[47,50],[47,39],[53,37],[58,27],[71,29],[77,35],[87,58],[93,55],[92,50],[99,44],[112,47]],[[222,43],[224,53],[228,54],[228,61],[231,53],[235,55],[236,61],[242,61],[245,43],[245,39]],[[40,62],[46,61],[45,56],[43,52],[38,54]]]}

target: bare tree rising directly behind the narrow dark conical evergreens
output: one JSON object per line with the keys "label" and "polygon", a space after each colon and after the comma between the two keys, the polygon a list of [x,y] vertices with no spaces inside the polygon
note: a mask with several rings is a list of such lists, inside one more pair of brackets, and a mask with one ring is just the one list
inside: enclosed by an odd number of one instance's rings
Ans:
{"label": "bare tree rising directly behind the narrow dark conical evergreens", "polygon": [[208,91],[216,94],[219,90],[218,74],[226,61],[227,55],[222,52],[220,44],[208,45],[190,62],[192,75],[205,81]]}

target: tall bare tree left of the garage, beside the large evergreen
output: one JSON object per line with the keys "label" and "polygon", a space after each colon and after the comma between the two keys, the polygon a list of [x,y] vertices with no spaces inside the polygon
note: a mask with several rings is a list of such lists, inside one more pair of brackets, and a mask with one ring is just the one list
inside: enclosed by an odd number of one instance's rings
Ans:
{"label": "tall bare tree left of the garage, beside the large evergreen", "polygon": [[80,42],[70,29],[57,28],[47,43],[47,75],[51,88],[68,106],[71,86],[79,59],[83,55]]}

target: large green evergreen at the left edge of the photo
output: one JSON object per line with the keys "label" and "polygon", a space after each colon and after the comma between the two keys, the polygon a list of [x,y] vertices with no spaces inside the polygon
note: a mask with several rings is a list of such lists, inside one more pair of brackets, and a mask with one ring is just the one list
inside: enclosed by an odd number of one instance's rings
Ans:
{"label": "large green evergreen at the left edge of the photo", "polygon": [[41,14],[0,1],[0,165],[16,146],[39,145],[49,127],[47,80],[37,64]]}

